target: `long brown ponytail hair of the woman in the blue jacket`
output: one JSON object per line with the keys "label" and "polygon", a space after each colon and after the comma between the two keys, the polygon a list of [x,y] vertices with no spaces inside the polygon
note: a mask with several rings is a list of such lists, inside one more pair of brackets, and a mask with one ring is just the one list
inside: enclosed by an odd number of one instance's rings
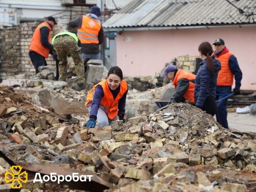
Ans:
{"label": "long brown ponytail hair of the woman in the blue jacket", "polygon": [[199,45],[198,51],[200,51],[203,55],[206,56],[207,67],[208,67],[209,71],[212,74],[214,74],[215,73],[214,63],[213,63],[213,60],[211,57],[211,55],[213,53],[212,45],[209,42],[203,42]]}

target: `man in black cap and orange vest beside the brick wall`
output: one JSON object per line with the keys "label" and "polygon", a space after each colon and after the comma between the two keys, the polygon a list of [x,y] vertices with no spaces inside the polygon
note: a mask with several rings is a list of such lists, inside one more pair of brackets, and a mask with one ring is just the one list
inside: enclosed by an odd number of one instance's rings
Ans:
{"label": "man in black cap and orange vest beside the brick wall", "polygon": [[45,58],[48,58],[49,53],[53,54],[51,31],[56,24],[54,17],[47,17],[46,21],[36,27],[32,36],[28,55],[36,69],[36,73],[39,73],[38,67],[47,66]]}

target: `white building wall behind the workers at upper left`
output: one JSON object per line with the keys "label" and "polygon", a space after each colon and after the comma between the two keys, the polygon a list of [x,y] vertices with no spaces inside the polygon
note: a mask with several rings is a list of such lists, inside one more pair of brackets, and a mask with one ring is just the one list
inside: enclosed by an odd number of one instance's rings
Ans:
{"label": "white building wall behind the workers at upper left", "polygon": [[[45,17],[53,16],[58,23],[66,28],[72,16],[88,13],[90,8],[80,6],[66,7],[61,5],[60,0],[1,0],[0,1],[0,24],[19,24],[27,21],[44,21]],[[10,22],[12,21],[12,22]]]}

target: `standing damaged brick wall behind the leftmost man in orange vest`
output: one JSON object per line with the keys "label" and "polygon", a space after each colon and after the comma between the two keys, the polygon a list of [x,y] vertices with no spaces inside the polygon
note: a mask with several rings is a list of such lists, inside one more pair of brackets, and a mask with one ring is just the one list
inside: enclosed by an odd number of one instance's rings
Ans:
{"label": "standing damaged brick wall behind the leftmost man in orange vest", "polygon": [[[2,61],[0,79],[15,78],[18,74],[24,74],[25,78],[29,78],[36,74],[28,52],[30,41],[38,24],[40,23],[22,23],[0,29],[0,59]],[[51,55],[46,62],[50,68],[55,67]]]}

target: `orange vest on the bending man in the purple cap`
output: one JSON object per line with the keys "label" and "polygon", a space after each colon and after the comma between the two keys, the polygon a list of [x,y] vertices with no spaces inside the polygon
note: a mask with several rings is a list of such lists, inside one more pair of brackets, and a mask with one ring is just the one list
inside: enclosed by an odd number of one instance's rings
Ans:
{"label": "orange vest on the bending man in the purple cap", "polygon": [[[178,81],[182,78],[188,79],[188,80],[192,80],[196,78],[196,75],[189,73],[187,71],[182,71],[181,69],[179,69],[173,79],[173,85],[176,88]],[[189,86],[188,86],[188,90],[187,92],[184,94],[184,98],[186,100],[188,100],[190,103],[195,103],[194,100],[194,89],[195,89],[195,83],[192,83],[189,81]]]}

